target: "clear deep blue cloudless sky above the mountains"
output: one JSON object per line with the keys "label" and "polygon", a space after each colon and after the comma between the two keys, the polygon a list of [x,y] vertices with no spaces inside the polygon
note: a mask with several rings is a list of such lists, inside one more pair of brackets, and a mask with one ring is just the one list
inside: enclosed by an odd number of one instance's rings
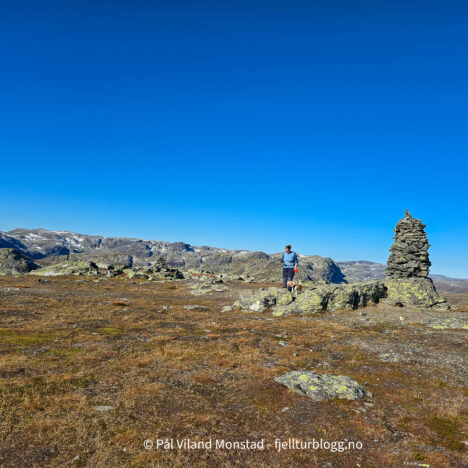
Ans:
{"label": "clear deep blue cloudless sky above the mountains", "polygon": [[408,208],[468,277],[468,4],[0,5],[0,230],[385,262]]}

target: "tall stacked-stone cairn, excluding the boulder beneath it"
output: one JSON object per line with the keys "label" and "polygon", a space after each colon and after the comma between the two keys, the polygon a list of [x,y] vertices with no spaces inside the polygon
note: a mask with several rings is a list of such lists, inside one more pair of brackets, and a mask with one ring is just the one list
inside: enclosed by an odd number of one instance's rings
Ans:
{"label": "tall stacked-stone cairn, excluding the boulder beneath it", "polygon": [[390,247],[387,261],[387,277],[427,278],[429,275],[430,245],[421,220],[413,218],[406,210],[405,217],[395,227],[395,242]]}

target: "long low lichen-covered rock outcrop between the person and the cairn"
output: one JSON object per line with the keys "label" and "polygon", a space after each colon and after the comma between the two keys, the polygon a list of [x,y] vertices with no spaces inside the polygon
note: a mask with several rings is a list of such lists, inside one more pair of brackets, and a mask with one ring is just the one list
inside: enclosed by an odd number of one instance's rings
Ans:
{"label": "long low lichen-covered rock outcrop between the person and the cairn", "polygon": [[311,315],[325,310],[356,309],[377,304],[385,297],[383,282],[318,285],[293,297],[286,289],[268,288],[243,291],[234,306],[259,312],[274,307],[273,315]]}

